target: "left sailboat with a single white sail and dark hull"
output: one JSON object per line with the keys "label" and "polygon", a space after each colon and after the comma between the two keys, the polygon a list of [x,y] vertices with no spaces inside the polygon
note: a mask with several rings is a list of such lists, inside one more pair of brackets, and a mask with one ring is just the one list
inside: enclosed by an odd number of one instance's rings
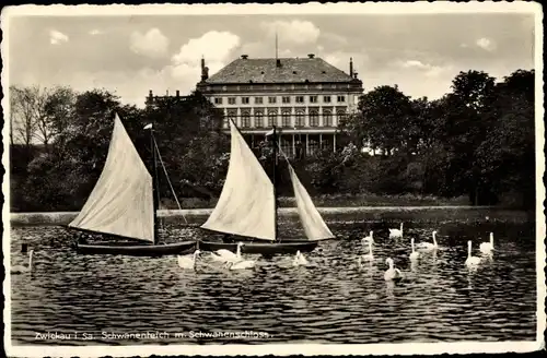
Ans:
{"label": "left sailboat with a single white sail and dark hull", "polygon": [[68,225],[69,229],[100,234],[104,239],[93,243],[79,240],[77,252],[158,256],[183,253],[196,246],[194,240],[159,243],[156,162],[160,154],[152,124],[144,129],[150,129],[153,175],[116,114],[101,177],[78,216]]}

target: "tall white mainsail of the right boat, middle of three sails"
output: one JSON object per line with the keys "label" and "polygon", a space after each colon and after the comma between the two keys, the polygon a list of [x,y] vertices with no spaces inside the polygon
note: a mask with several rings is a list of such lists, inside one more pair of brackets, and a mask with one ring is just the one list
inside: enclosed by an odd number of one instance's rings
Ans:
{"label": "tall white mainsail of the right boat, middle of three sails", "polygon": [[201,227],[275,240],[274,184],[232,121],[230,132],[232,145],[226,180],[217,206]]}

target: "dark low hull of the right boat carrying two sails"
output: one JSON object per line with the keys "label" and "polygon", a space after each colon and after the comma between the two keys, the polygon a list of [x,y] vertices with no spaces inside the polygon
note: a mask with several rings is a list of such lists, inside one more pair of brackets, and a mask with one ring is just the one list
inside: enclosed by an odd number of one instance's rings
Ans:
{"label": "dark low hull of the right boat carrying two sails", "polygon": [[[241,248],[242,253],[260,253],[260,254],[277,254],[277,253],[296,253],[310,252],[317,247],[317,241],[288,241],[288,242],[244,242]],[[199,250],[201,251],[217,251],[230,250],[235,252],[237,250],[237,242],[214,242],[214,241],[199,241]]]}

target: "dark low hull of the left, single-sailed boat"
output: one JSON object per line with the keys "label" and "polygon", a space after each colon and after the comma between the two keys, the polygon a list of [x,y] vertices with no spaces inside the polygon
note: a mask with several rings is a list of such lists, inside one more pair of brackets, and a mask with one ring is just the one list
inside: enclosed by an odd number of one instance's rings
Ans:
{"label": "dark low hull of the left, single-sailed boat", "polygon": [[183,241],[165,244],[116,244],[116,243],[77,243],[80,254],[120,254],[130,256],[176,255],[193,251],[196,241]]}

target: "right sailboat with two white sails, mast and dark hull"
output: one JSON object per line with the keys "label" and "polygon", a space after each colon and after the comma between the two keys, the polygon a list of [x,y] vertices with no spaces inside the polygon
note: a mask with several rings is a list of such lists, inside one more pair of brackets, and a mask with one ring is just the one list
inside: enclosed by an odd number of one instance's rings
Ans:
{"label": "right sailboat with two white sails, mast and dark hull", "polygon": [[[202,229],[241,237],[245,253],[310,252],[319,240],[333,239],[328,226],[321,217],[310,194],[300,182],[289,163],[290,178],[296,199],[298,213],[306,236],[305,240],[283,240],[278,235],[278,207],[276,200],[277,139],[274,127],[274,181],[270,180],[255,154],[248,147],[235,123],[230,120],[231,153],[228,175],[217,206]],[[201,240],[202,251],[226,249],[235,252],[236,242]]]}

